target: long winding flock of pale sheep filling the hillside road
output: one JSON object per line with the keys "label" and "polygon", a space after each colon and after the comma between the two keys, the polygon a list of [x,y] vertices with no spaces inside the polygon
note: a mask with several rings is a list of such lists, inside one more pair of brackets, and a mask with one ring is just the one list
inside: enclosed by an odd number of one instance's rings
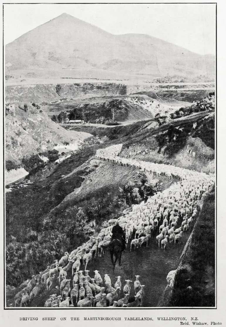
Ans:
{"label": "long winding flock of pale sheep filling the hillside road", "polygon": [[[96,152],[97,159],[109,160],[113,157],[114,162],[136,166],[137,162],[117,157],[122,145],[100,149]],[[105,151],[105,152],[104,152]],[[103,229],[97,236],[91,236],[89,241],[73,250],[70,254],[55,261],[51,266],[38,275],[33,275],[30,281],[22,284],[24,288],[15,296],[15,306],[27,306],[35,297],[43,291],[53,291],[45,302],[46,307],[119,307],[119,306],[142,306],[144,285],[141,285],[136,276],[134,282],[135,297],[130,297],[130,280],[126,280],[123,287],[124,297],[120,299],[121,280],[112,286],[107,274],[103,280],[99,272],[95,270],[94,278],[89,276],[87,266],[93,258],[102,256],[110,243],[111,230],[118,220],[126,233],[126,244],[130,242],[130,251],[149,244],[149,240],[157,234],[158,247],[165,250],[170,243],[180,243],[184,232],[191,230],[202,207],[202,197],[210,190],[214,183],[212,175],[206,175],[163,164],[138,162],[139,169],[164,174],[168,178],[177,176],[181,181],[172,184],[163,192],[149,197],[147,202],[141,202],[132,208],[126,209],[118,219],[110,219],[104,222]],[[174,171],[175,168],[175,171]],[[171,174],[171,175],[169,175]],[[132,211],[131,211],[132,210]],[[80,270],[81,265],[84,266]],[[67,277],[72,275],[71,279]],[[167,276],[168,284],[172,284],[172,272]]]}

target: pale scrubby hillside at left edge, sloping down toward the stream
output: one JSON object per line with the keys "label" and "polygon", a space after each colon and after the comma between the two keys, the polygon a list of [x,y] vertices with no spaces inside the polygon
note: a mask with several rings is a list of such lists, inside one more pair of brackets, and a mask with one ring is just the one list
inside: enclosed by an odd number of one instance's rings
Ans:
{"label": "pale scrubby hillside at left edge, sloping down toward the stream", "polygon": [[44,162],[45,156],[54,148],[70,144],[77,148],[79,143],[91,136],[84,132],[66,131],[35,104],[6,106],[5,124],[7,170],[19,167],[29,169],[31,158],[31,165],[34,167],[35,161]]}

